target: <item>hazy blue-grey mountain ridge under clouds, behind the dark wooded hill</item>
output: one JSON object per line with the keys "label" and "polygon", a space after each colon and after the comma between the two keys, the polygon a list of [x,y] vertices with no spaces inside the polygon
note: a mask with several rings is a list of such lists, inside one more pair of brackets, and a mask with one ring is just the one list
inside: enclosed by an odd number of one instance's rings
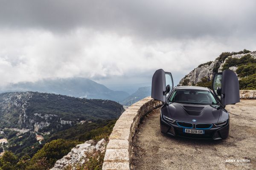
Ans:
{"label": "hazy blue-grey mountain ridge under clouds, behind the dark wooded hill", "polygon": [[123,101],[129,94],[125,91],[113,91],[105,85],[87,78],[43,79],[37,82],[20,82],[0,90],[3,92],[37,91],[41,93],[62,94],[87,99],[109,99]]}

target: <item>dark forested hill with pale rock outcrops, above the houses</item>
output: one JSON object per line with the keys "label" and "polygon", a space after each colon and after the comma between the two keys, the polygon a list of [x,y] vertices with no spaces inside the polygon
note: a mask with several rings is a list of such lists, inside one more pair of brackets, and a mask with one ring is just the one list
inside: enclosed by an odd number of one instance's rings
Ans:
{"label": "dark forested hill with pale rock outcrops, above the houses", "polygon": [[37,92],[0,94],[0,128],[49,132],[77,123],[116,119],[122,105],[111,100],[79,99]]}

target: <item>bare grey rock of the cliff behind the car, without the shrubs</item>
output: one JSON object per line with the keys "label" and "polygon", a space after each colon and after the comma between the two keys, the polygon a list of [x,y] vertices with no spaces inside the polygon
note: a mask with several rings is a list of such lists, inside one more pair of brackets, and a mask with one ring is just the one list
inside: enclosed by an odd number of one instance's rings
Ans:
{"label": "bare grey rock of the cliff behind the car, without the shrubs", "polygon": [[[193,71],[190,71],[185,77],[180,80],[179,85],[197,85],[198,82],[201,82],[202,79],[207,81],[212,80],[215,73],[221,72],[223,66],[228,60],[232,59],[241,59],[245,55],[250,54],[251,57],[256,59],[256,51],[249,52],[247,50],[236,52],[225,52],[220,55],[220,57],[216,58],[214,61],[207,62],[199,65]],[[237,65],[229,67],[229,69],[236,71]]]}

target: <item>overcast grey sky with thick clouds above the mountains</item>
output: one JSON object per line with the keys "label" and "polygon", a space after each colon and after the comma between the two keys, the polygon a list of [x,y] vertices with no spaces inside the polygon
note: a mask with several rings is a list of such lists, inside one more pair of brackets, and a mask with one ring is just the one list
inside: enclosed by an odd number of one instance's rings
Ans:
{"label": "overcast grey sky with thick clouds above the mountains", "polygon": [[87,77],[177,83],[223,51],[256,50],[255,0],[0,0],[0,85]]}

